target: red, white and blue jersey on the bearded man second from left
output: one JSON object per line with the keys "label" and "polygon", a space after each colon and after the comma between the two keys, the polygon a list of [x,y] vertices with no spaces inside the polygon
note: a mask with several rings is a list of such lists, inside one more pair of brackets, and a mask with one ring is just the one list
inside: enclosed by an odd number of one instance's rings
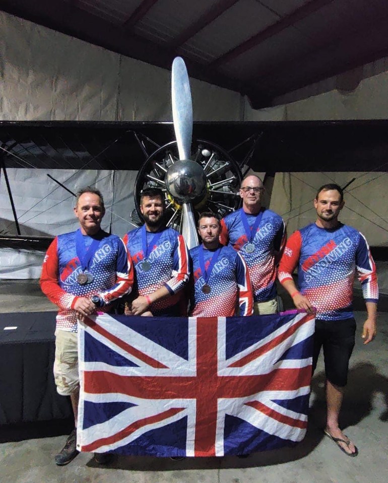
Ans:
{"label": "red, white and blue jersey on the bearded man second from left", "polygon": [[[148,271],[142,268],[145,259],[142,228],[136,228],[123,237],[135,267],[134,293],[145,296],[166,287],[171,297],[153,303],[150,307],[153,315],[185,315],[183,292],[180,291],[187,284],[190,271],[184,239],[172,228],[166,228],[162,233],[146,232],[146,235],[149,247],[147,261],[151,264]],[[152,243],[153,238],[157,238],[156,245]]]}

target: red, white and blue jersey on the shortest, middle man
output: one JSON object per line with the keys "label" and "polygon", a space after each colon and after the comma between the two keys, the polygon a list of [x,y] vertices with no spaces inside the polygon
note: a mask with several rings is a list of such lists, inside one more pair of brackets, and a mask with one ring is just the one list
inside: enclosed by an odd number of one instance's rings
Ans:
{"label": "red, white and blue jersey on the shortest, middle man", "polygon": [[[205,279],[199,260],[200,247],[191,248],[190,310],[189,315],[196,317],[232,317],[236,313],[237,303],[239,315],[252,315],[253,294],[249,272],[243,258],[233,248],[221,248],[217,262],[207,280],[211,292],[205,294],[202,287]],[[205,269],[208,270],[215,250],[203,250]]]}

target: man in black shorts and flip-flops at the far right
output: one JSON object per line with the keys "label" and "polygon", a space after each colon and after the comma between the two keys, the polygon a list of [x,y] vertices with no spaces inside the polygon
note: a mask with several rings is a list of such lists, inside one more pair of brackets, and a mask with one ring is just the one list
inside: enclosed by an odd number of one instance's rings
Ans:
{"label": "man in black shorts and flip-flops at the far right", "polygon": [[[376,334],[378,287],[376,269],[364,236],[338,221],[344,206],[343,191],[336,184],[318,189],[314,199],[315,223],[289,238],[279,266],[279,280],[298,309],[316,308],[313,371],[321,347],[326,373],[327,422],[325,434],[348,456],[356,445],[339,428],[349,359],[355,341],[353,282],[357,275],[366,304],[362,338],[368,344]],[[292,273],[298,266],[298,287]]]}

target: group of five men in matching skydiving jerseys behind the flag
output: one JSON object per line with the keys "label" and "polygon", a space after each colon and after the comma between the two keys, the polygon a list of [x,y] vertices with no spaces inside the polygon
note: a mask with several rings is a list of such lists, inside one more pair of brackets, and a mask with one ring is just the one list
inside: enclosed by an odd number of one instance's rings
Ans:
{"label": "group of five men in matching skydiving jerseys behind the flag", "polygon": [[[325,433],[349,456],[355,445],[338,425],[343,387],[354,346],[352,286],[362,283],[368,318],[364,343],[376,333],[377,281],[365,238],[338,221],[342,189],[319,188],[314,199],[315,223],[295,232],[286,244],[283,219],[262,206],[263,182],[242,180],[242,208],[223,220],[200,215],[201,245],[187,250],[182,235],[166,228],[164,194],[143,190],[144,225],[122,240],[101,230],[104,201],[87,187],[77,195],[80,228],[59,235],[47,250],[41,288],[58,307],[54,377],[59,394],[70,395],[77,427],[79,400],[77,324],[97,310],[109,311],[117,298],[127,300],[127,315],[250,316],[278,311],[276,277],[295,306],[316,309],[313,368],[323,346],[327,376],[328,417]],[[283,256],[282,256],[283,254]],[[278,268],[280,262],[280,266]],[[298,266],[298,287],[292,278]],[[76,429],[55,456],[57,465],[78,454]],[[95,454],[98,463],[110,455]]]}

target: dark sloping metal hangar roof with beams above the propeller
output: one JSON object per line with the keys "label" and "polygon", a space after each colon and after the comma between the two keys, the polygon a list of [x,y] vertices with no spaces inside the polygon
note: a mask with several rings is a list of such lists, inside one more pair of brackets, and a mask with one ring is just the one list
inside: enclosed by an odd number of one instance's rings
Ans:
{"label": "dark sloping metal hangar roof with beams above the propeller", "polygon": [[3,0],[2,9],[248,94],[252,105],[388,55],[386,0]]}

